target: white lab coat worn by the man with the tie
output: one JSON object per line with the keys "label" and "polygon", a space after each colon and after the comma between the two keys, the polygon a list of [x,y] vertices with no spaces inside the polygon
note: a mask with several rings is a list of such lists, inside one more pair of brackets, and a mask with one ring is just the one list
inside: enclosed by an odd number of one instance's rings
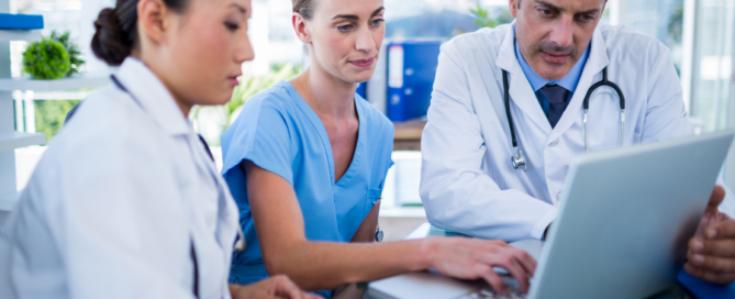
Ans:
{"label": "white lab coat worn by the man with the tie", "polygon": [[[483,29],[442,46],[421,144],[420,192],[430,222],[506,241],[541,239],[555,219],[569,164],[586,152],[582,101],[605,66],[626,99],[625,145],[692,133],[669,49],[624,26],[594,31],[577,90],[552,129],[516,59],[513,26]],[[511,166],[502,69],[509,73],[511,114],[526,173]],[[619,103],[611,88],[593,92],[590,151],[619,145]]]}

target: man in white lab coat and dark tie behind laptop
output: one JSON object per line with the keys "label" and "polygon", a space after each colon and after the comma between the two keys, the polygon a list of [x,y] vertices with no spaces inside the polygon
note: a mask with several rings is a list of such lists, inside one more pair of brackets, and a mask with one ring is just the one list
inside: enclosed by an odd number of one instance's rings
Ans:
{"label": "man in white lab coat and dark tie behind laptop", "polygon": [[[603,69],[627,100],[624,144],[692,133],[669,49],[623,26],[598,26],[605,0],[510,0],[516,21],[458,36],[442,47],[428,123],[422,137],[421,197],[428,220],[475,236],[542,239],[556,217],[573,155],[583,153],[582,101]],[[508,71],[511,114],[527,171],[511,166],[503,100]],[[620,102],[594,91],[590,151],[620,144]],[[735,281],[735,221],[717,211],[717,187],[690,242],[686,269]],[[732,195],[723,211],[733,211]],[[708,222],[709,223],[709,222]]]}

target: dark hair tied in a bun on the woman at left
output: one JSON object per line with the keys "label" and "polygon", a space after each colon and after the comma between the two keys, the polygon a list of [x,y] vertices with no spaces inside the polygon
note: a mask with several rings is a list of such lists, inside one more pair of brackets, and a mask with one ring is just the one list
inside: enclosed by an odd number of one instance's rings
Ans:
{"label": "dark hair tied in a bun on the woman at left", "polygon": [[[164,0],[175,12],[183,12],[190,0]],[[115,8],[100,11],[94,21],[92,52],[108,65],[119,66],[137,43],[137,0],[118,0]]]}

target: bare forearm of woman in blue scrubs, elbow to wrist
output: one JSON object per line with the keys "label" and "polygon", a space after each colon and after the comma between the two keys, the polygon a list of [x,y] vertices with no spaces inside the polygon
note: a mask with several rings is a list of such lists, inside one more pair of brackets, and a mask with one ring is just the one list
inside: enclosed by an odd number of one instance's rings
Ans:
{"label": "bare forearm of woman in blue scrubs, elbow to wrist", "polygon": [[270,275],[283,274],[307,290],[332,289],[430,267],[427,240],[374,244],[294,242],[264,252]]}

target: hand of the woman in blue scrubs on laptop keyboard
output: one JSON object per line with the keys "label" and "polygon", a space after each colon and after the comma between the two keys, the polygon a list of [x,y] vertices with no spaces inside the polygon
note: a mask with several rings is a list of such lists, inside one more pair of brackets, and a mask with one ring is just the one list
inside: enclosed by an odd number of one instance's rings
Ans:
{"label": "hand of the woman in blue scrubs on laptop keyboard", "polygon": [[460,279],[485,279],[498,292],[506,294],[505,285],[492,269],[500,267],[513,276],[523,291],[528,291],[528,277],[536,261],[526,252],[502,241],[464,237],[426,239],[425,256],[442,274]]}

